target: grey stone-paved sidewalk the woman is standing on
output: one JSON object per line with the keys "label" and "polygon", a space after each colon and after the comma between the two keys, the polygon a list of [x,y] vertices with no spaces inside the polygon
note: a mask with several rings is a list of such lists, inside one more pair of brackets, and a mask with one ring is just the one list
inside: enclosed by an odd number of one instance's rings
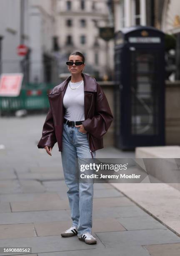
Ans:
{"label": "grey stone-paved sidewalk the woman is standing on", "polygon": [[[111,184],[94,184],[97,244],[60,236],[71,225],[67,187],[57,145],[52,157],[36,146],[44,119],[0,120],[0,144],[5,145],[0,150],[0,247],[32,247],[32,254],[25,254],[32,256],[179,256],[180,237]],[[134,152],[97,151],[97,158],[105,157],[134,157]]]}

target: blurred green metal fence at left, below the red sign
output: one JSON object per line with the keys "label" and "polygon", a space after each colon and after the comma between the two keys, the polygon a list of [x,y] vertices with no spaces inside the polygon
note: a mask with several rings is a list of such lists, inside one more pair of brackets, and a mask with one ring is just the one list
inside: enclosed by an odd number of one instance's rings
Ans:
{"label": "blurred green metal fence at left, below the red sign", "polygon": [[46,110],[49,108],[47,94],[53,84],[26,84],[22,87],[18,97],[0,96],[0,112],[15,110]]}

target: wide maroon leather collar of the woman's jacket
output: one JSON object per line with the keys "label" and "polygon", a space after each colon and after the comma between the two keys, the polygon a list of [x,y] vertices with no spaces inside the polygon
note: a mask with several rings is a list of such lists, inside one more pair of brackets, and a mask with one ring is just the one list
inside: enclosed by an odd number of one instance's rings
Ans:
{"label": "wide maroon leather collar of the woman's jacket", "polygon": [[[84,91],[87,92],[97,92],[97,83],[94,77],[90,77],[87,74],[82,73],[82,77],[84,80]],[[61,84],[57,85],[56,90],[52,93],[62,92],[65,90],[68,82],[70,81],[71,76],[67,77],[65,81]]]}

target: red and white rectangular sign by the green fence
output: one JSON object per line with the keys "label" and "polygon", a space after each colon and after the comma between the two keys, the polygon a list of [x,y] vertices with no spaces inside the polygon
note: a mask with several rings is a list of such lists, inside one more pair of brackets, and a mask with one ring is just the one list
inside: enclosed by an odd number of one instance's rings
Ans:
{"label": "red and white rectangular sign by the green fence", "polygon": [[22,73],[2,74],[0,77],[0,96],[18,96],[22,81]]}

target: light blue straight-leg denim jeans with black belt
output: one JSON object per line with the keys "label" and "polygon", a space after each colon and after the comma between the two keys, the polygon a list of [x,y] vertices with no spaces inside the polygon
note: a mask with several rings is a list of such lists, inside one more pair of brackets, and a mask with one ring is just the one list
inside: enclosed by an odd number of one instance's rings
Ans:
{"label": "light blue straight-leg denim jeans with black belt", "polygon": [[[78,235],[92,233],[93,202],[93,183],[82,183],[77,179],[78,159],[92,159],[87,134],[81,133],[79,129],[63,124],[61,152],[72,224],[77,227]],[[95,158],[95,151],[92,154]]]}

